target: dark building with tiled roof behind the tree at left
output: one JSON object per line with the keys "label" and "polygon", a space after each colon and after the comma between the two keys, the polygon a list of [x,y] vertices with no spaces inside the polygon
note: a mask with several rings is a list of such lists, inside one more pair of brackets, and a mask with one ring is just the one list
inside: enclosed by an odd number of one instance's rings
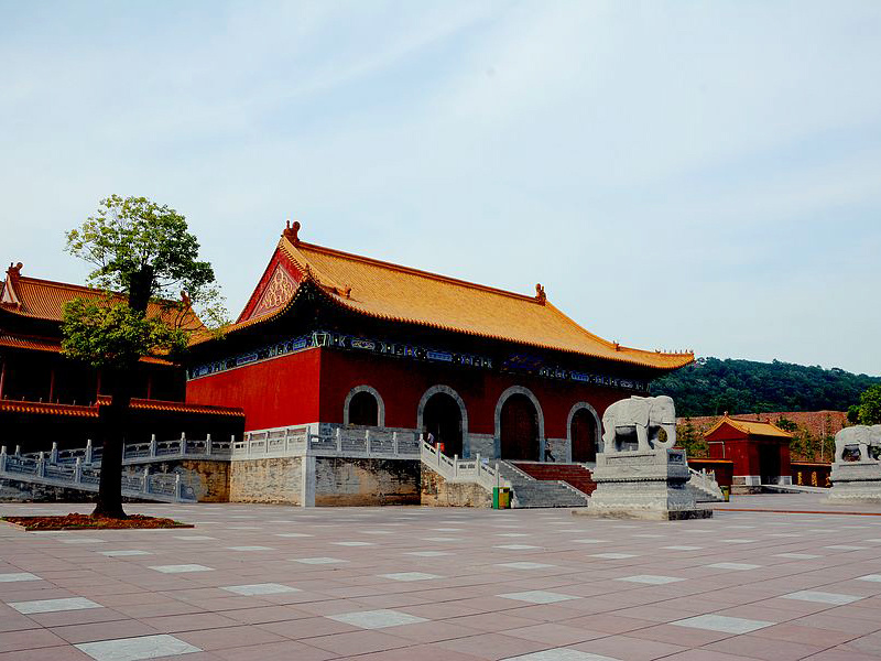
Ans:
{"label": "dark building with tiled roof behind the tree at left", "polygon": [[[10,264],[0,284],[0,445],[9,452],[75,448],[96,440],[109,383],[101,370],[62,354],[64,304],[76,297],[98,299],[98,290],[22,275]],[[151,303],[149,314],[163,314]],[[200,326],[189,314],[188,322]],[[184,402],[184,368],[162,358],[142,358],[128,376],[133,383],[133,425],[129,442],[241,435],[241,410],[189,407]]]}

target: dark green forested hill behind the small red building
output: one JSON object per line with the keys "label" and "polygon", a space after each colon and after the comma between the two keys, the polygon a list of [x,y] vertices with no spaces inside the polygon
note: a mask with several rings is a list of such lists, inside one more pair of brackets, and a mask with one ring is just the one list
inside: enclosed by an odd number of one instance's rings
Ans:
{"label": "dark green forested hill behind the small red building", "polygon": [[652,382],[652,394],[668,394],[676,414],[721,415],[762,411],[847,411],[881,377],[791,362],[698,358]]}

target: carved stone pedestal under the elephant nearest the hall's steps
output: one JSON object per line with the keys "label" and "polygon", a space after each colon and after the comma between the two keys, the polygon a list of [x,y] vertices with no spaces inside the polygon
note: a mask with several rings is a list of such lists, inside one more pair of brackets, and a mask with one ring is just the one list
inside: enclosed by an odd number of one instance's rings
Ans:
{"label": "carved stone pedestal under the elephant nearest the hall's steps", "polygon": [[713,510],[695,502],[685,451],[659,447],[597,454],[597,489],[587,509],[574,513],[605,519],[709,519]]}

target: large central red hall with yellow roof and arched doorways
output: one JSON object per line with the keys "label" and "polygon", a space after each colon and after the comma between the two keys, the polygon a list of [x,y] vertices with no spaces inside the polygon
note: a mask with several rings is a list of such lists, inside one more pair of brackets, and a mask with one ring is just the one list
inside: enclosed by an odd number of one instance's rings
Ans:
{"label": "large central red hall with yellow roof and arched doorways", "polygon": [[298,232],[226,336],[192,347],[186,401],[241,408],[244,442],[431,434],[450,457],[591,463],[606,408],[694,360],[601,339],[541,284],[522,295]]}

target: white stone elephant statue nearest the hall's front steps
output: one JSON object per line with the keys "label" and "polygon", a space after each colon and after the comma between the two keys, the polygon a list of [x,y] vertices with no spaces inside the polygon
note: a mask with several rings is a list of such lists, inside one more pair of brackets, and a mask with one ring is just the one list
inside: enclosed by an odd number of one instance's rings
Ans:
{"label": "white stone elephant statue nearest the hall's front steps", "polygon": [[[602,414],[602,443],[607,453],[621,452],[621,436],[637,434],[637,449],[673,447],[676,444],[676,408],[673,398],[631,397],[611,404]],[[667,434],[663,443],[661,430]]]}

